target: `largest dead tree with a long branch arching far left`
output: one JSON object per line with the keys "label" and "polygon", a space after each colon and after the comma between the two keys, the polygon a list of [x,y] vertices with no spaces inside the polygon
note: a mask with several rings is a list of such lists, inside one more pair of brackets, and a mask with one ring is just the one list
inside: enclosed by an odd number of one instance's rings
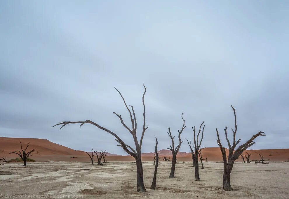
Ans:
{"label": "largest dead tree with a long branch arching far left", "polygon": [[[135,143],[135,149],[133,149],[133,147],[130,147],[129,145],[125,144],[123,142],[123,140],[114,132],[110,131],[109,129],[105,128],[105,127],[102,127],[100,126],[99,124],[91,121],[91,120],[85,120],[85,121],[62,121],[60,122],[59,124],[55,124],[54,126],[56,125],[62,125],[62,127],[64,127],[65,125],[67,124],[81,124],[80,127],[83,125],[83,124],[86,124],[86,123],[89,123],[89,124],[92,124],[94,126],[96,126],[97,128],[100,128],[102,129],[103,131],[106,131],[107,133],[113,135],[116,139],[116,141],[119,143],[119,145],[117,146],[121,146],[123,148],[123,150],[133,156],[135,158],[135,163],[136,163],[136,170],[137,170],[137,191],[138,192],[146,192],[146,189],[145,189],[145,185],[144,185],[144,180],[143,180],[143,170],[142,170],[142,155],[141,155],[141,148],[142,148],[142,140],[143,140],[143,137],[145,135],[145,130],[147,130],[148,126],[145,127],[146,125],[146,122],[145,122],[145,102],[144,102],[144,97],[145,97],[145,93],[146,93],[146,87],[145,85],[143,85],[144,88],[145,88],[145,91],[142,95],[142,104],[143,104],[143,107],[144,107],[144,111],[143,111],[143,126],[142,126],[142,129],[141,129],[141,138],[140,138],[140,142],[138,142],[137,140],[137,135],[136,135],[136,132],[137,132],[137,121],[136,121],[136,117],[135,117],[135,112],[133,110],[133,106],[130,106],[131,108],[131,111],[130,109],[128,108],[128,106],[126,105],[126,101],[124,100],[123,96],[121,95],[121,93],[118,91],[118,93],[120,94],[125,106],[126,106],[126,109],[128,110],[129,112],[129,115],[130,115],[130,121],[131,121],[131,126],[132,128],[128,127],[124,121],[123,121],[123,118],[121,117],[121,115],[118,115],[117,113],[114,112],[114,114],[119,117],[120,121],[121,121],[121,124],[129,131],[129,133],[132,135],[133,137],[133,140],[134,140],[134,143]],[[60,128],[60,129],[61,129]]]}

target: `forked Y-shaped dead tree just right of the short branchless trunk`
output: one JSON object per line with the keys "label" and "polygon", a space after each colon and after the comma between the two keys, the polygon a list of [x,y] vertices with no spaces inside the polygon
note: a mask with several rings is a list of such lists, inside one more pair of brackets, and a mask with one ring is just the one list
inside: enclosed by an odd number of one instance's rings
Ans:
{"label": "forked Y-shaped dead tree just right of the short branchless trunk", "polygon": [[176,162],[177,162],[177,152],[179,152],[179,149],[181,147],[181,144],[183,143],[182,140],[181,140],[181,133],[183,132],[184,128],[186,128],[186,126],[184,126],[184,118],[183,118],[183,114],[184,112],[182,112],[182,120],[183,120],[183,126],[182,126],[182,129],[179,132],[179,144],[177,145],[177,147],[175,147],[175,143],[174,143],[174,138],[175,136],[173,137],[172,136],[172,133],[170,132],[170,128],[168,128],[169,132],[168,132],[168,135],[170,136],[170,139],[172,140],[172,145],[170,145],[170,149],[172,154],[173,154],[173,159],[172,159],[172,167],[170,169],[170,178],[174,178],[175,177],[175,168],[176,168]]}

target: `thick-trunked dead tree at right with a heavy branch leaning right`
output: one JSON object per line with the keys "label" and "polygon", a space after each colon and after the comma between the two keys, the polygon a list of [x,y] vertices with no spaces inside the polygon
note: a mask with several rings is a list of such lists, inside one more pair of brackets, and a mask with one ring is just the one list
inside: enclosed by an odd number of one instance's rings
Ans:
{"label": "thick-trunked dead tree at right with a heavy branch leaning right", "polygon": [[222,152],[222,157],[223,157],[223,161],[224,161],[224,174],[223,174],[223,189],[226,191],[233,191],[234,189],[231,187],[230,184],[230,174],[231,171],[233,169],[233,165],[234,165],[234,161],[236,159],[238,159],[238,157],[249,147],[251,147],[253,144],[255,144],[255,142],[253,142],[253,140],[255,138],[257,138],[258,136],[264,136],[264,132],[259,131],[258,133],[256,133],[255,135],[252,136],[252,138],[250,138],[246,143],[244,143],[243,145],[239,146],[237,149],[236,146],[238,145],[238,143],[240,142],[241,139],[237,140],[236,142],[236,132],[237,132],[237,121],[236,121],[236,109],[234,109],[233,106],[231,106],[233,111],[234,111],[234,116],[235,116],[235,130],[232,129],[233,131],[233,144],[231,145],[227,136],[227,126],[225,127],[224,131],[225,131],[225,136],[226,136],[226,140],[228,142],[228,147],[229,147],[229,155],[228,155],[228,161],[227,161],[227,155],[226,155],[226,150],[225,148],[222,146],[221,141],[220,141],[220,137],[219,137],[219,132],[216,128],[216,132],[217,132],[217,144],[219,145],[221,152]]}

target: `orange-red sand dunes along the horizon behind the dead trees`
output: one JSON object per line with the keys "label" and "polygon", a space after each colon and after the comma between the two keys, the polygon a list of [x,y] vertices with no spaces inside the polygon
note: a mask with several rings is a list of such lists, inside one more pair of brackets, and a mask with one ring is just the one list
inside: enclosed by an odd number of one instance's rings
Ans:
{"label": "orange-red sand dunes along the horizon behind the dead trees", "polygon": [[[70,149],[68,147],[55,144],[49,140],[37,139],[37,138],[4,138],[0,137],[0,157],[6,156],[7,159],[17,157],[16,154],[9,154],[10,151],[20,150],[20,141],[22,146],[26,147],[28,142],[30,145],[27,150],[36,149],[39,153],[34,153],[30,158],[35,159],[36,162],[42,161],[90,161],[88,155],[84,151]],[[109,151],[109,149],[107,150]],[[228,151],[228,150],[227,150]],[[162,149],[159,152],[159,158],[163,157],[172,158],[172,153],[169,149]],[[289,149],[260,149],[260,150],[246,150],[246,152],[252,154],[250,160],[260,159],[257,153],[262,153],[264,159],[271,161],[287,161],[289,160]],[[107,161],[134,161],[131,156],[121,156],[117,154],[110,154],[107,152]],[[202,151],[203,159],[208,161],[222,161],[222,154],[219,147],[208,147]],[[154,153],[143,153],[142,161],[153,161]],[[96,160],[96,156],[95,156]],[[189,152],[178,152],[178,161],[191,161],[192,157]],[[206,160],[205,160],[206,161]],[[243,161],[241,158],[238,161]]]}

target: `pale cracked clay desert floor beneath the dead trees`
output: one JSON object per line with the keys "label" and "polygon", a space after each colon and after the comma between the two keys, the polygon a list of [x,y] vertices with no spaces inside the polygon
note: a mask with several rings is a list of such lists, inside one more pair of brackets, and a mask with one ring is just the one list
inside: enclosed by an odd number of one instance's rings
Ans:
{"label": "pale cracked clay desert floor beneath the dead trees", "polygon": [[[147,193],[136,192],[136,167],[132,162],[110,162],[104,166],[89,162],[2,163],[0,198],[8,195],[63,195],[76,198],[289,198],[289,162],[234,164],[231,185],[240,191],[223,191],[223,163],[204,162],[202,181],[194,180],[191,162],[176,165],[175,179],[169,179],[170,163],[158,168],[158,190],[150,190],[152,162],[143,163]],[[48,194],[48,195],[47,195]],[[34,196],[35,197],[35,196]],[[23,198],[23,197],[22,197]]]}

